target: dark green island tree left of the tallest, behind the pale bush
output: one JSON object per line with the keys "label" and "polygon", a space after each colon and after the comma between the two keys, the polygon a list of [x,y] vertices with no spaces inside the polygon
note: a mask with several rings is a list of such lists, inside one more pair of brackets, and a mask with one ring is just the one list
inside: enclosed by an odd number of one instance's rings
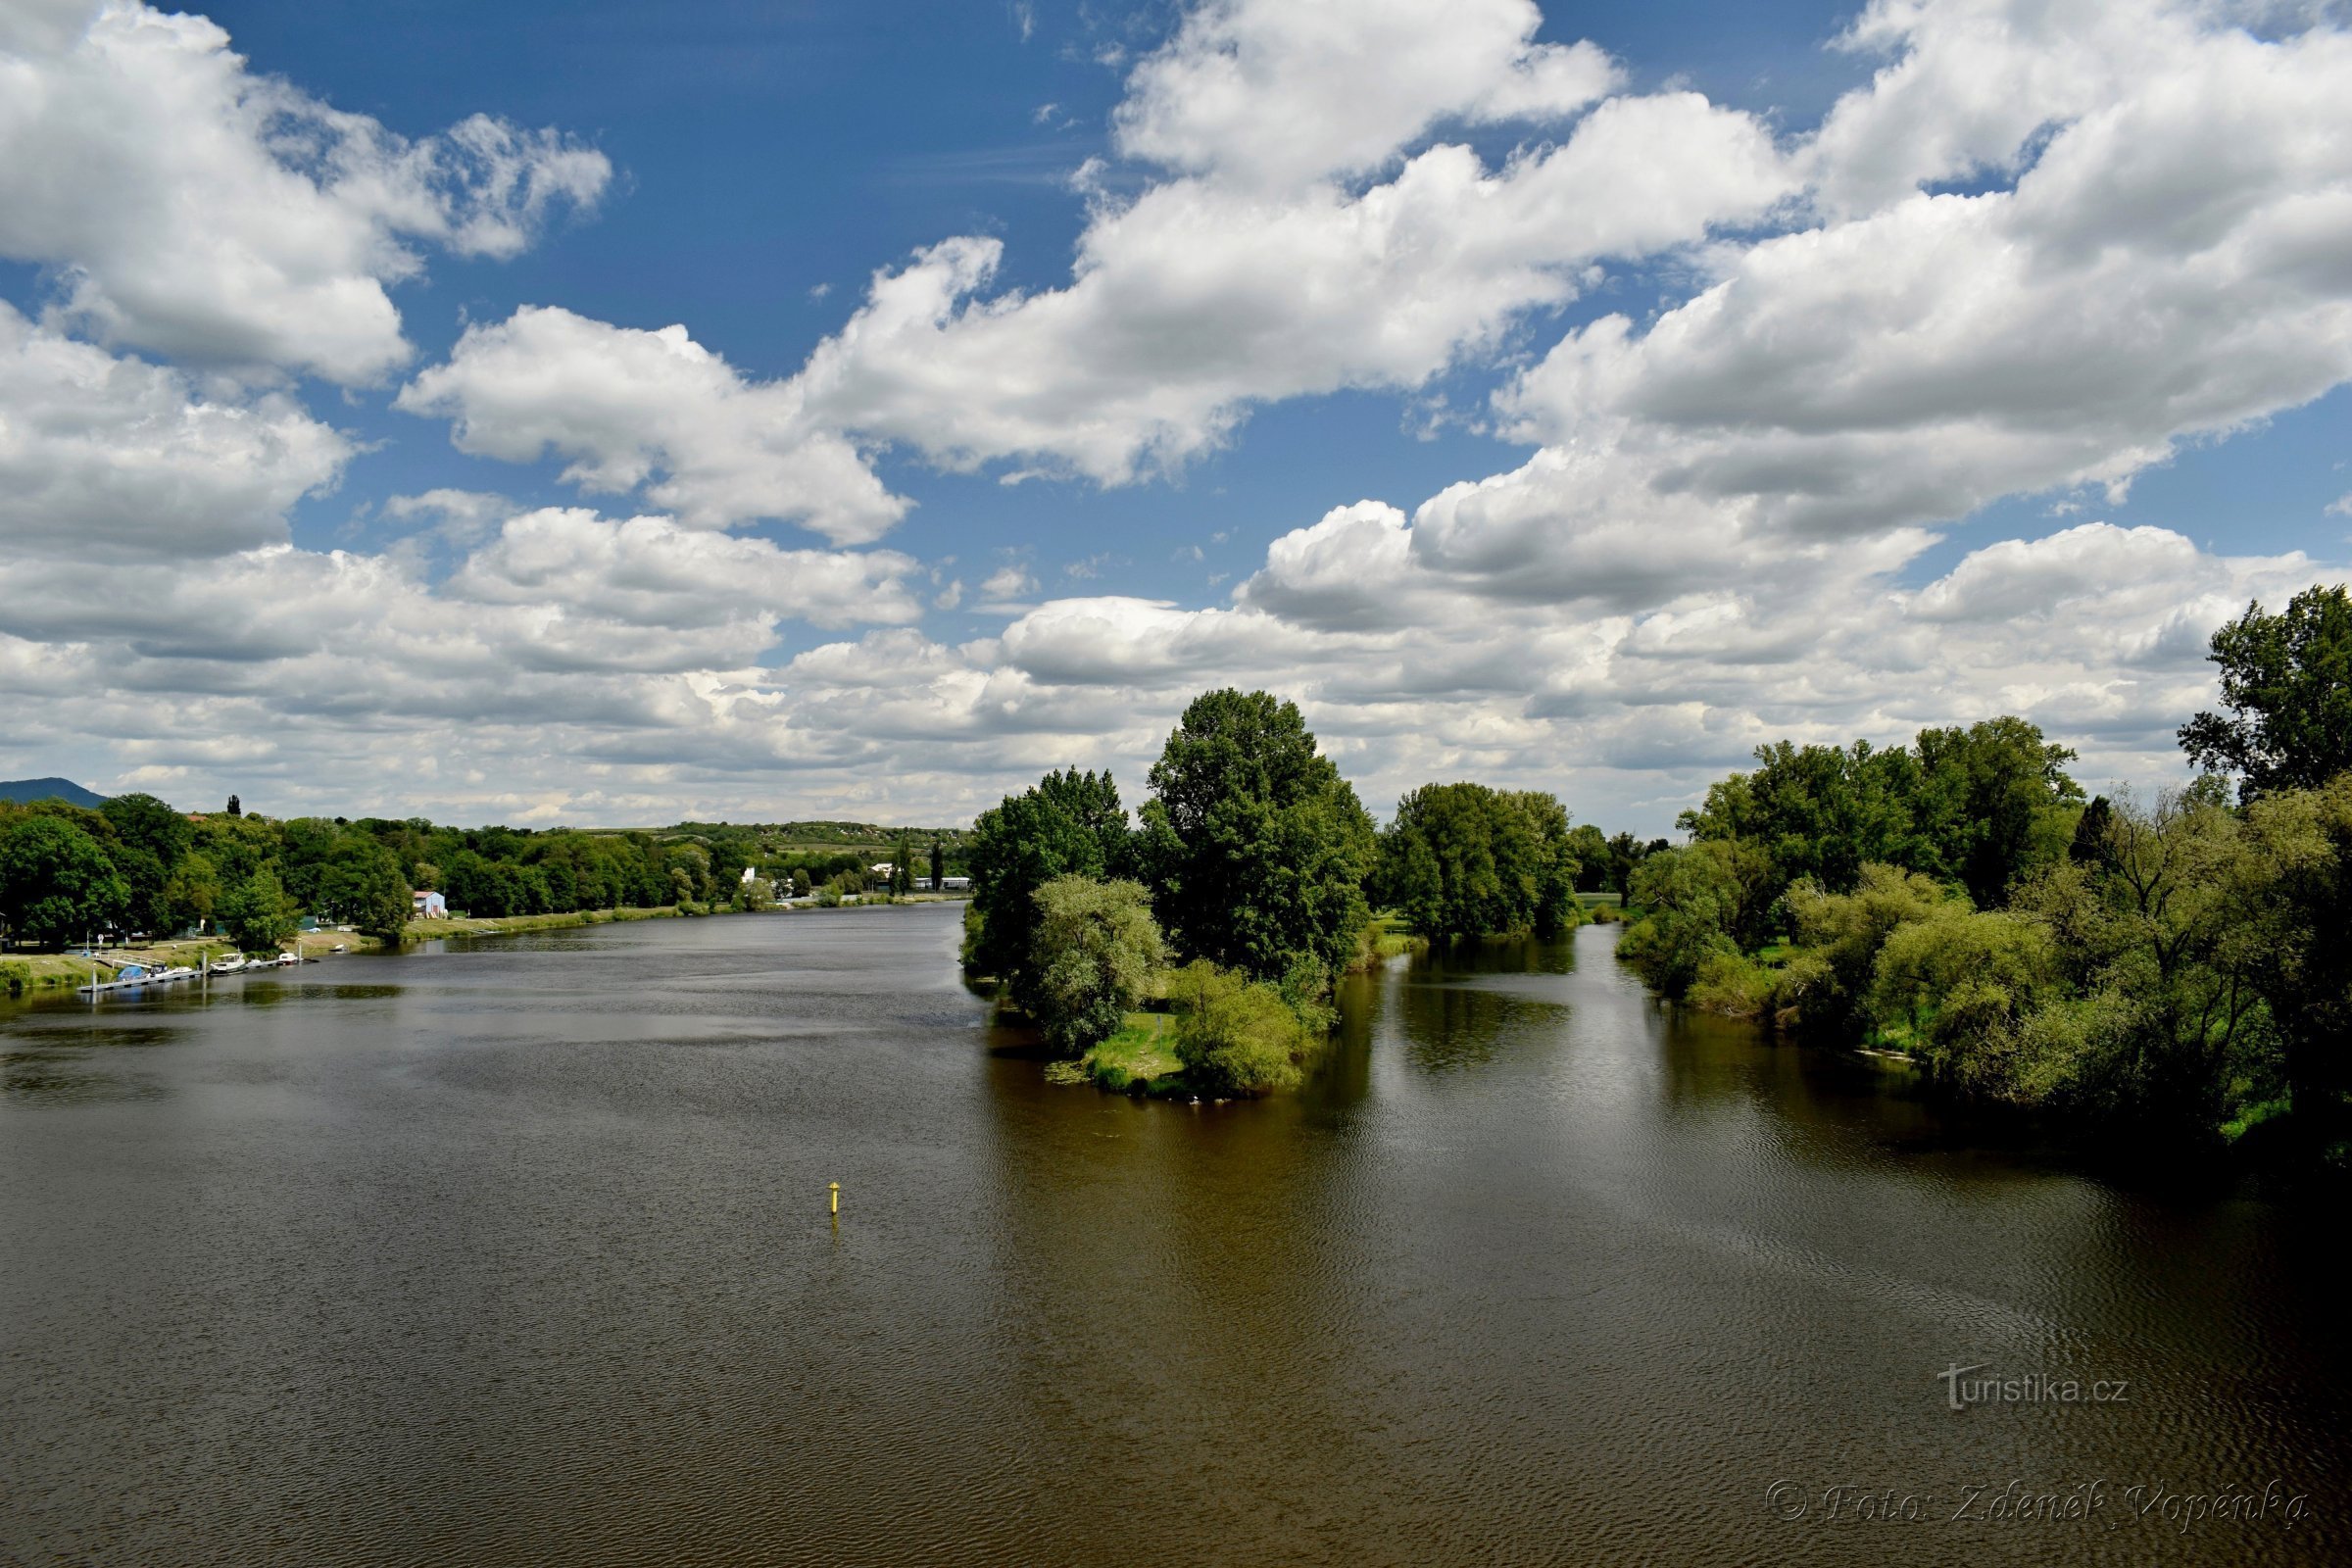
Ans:
{"label": "dark green island tree left of the tallest, behind the pale bush", "polygon": [[1131,865],[1127,809],[1110,773],[1047,773],[971,825],[971,973],[1016,985],[1037,940],[1037,889],[1054,877],[1122,877]]}

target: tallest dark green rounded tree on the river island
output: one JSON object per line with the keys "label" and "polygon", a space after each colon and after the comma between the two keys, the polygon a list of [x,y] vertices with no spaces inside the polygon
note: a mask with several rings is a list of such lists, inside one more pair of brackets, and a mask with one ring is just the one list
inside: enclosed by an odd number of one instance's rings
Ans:
{"label": "tallest dark green rounded tree on the river island", "polygon": [[1138,851],[1178,950],[1258,980],[1355,957],[1376,835],[1296,703],[1192,698],[1150,785]]}

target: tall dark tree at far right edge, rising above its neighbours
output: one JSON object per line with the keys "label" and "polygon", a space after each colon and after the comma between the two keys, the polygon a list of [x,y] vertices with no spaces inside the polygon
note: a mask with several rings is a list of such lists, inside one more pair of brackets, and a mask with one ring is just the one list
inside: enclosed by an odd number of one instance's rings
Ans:
{"label": "tall dark tree at far right edge, rising above its neighbours", "polygon": [[2237,773],[2239,795],[2317,790],[2352,769],[2352,595],[2312,585],[2265,616],[2260,599],[2213,632],[2220,705],[2180,726],[2201,769]]}

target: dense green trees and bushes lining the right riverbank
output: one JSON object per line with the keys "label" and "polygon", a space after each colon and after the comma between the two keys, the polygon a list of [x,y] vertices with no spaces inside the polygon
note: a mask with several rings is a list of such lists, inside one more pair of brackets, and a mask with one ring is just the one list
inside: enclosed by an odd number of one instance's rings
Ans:
{"label": "dense green trees and bushes lining the right riverbank", "polygon": [[[1665,997],[1915,1058],[1964,1095],[2352,1161],[2352,599],[2213,635],[2192,783],[2084,799],[2004,717],[1757,750],[1630,879]],[[2161,1147],[2161,1145],[2159,1145]]]}

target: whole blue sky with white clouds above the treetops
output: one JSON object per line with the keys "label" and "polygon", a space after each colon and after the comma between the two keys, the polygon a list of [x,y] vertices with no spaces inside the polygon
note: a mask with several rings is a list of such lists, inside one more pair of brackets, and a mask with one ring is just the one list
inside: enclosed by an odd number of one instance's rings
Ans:
{"label": "whole blue sky with white clouds above the treetops", "polygon": [[0,7],[0,776],[967,823],[1265,686],[2180,783],[2352,559],[2326,5]]}

